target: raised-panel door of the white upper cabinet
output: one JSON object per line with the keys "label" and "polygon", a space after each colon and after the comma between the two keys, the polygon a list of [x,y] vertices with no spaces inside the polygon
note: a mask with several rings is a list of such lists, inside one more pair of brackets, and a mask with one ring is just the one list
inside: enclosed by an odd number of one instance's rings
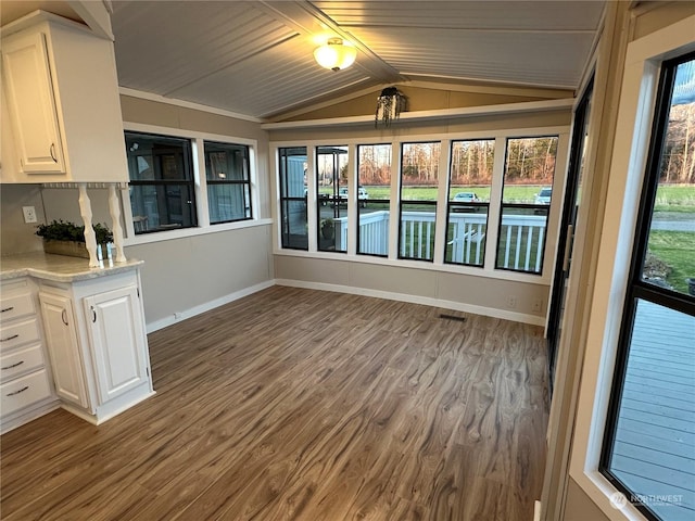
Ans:
{"label": "raised-panel door of the white upper cabinet", "polygon": [[33,33],[3,41],[3,79],[21,168],[26,174],[65,171],[46,37]]}

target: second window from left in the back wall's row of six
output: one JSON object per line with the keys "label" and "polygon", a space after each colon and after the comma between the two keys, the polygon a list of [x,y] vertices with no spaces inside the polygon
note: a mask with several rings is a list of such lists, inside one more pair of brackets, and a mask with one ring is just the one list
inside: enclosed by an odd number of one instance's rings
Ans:
{"label": "second window from left in the back wall's row of six", "polygon": [[348,147],[316,148],[318,250],[348,251]]}

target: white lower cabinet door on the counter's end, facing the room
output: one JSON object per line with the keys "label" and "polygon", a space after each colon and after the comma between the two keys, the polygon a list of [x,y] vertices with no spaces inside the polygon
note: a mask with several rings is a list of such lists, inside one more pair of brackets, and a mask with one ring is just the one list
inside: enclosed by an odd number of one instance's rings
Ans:
{"label": "white lower cabinet door on the counter's end, facing the room", "polygon": [[85,298],[102,404],[149,380],[140,306],[136,287]]}

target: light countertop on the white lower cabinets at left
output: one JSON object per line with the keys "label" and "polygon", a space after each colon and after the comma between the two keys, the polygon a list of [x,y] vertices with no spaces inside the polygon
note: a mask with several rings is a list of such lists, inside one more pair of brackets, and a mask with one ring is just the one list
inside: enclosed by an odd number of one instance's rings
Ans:
{"label": "light countertop on the white lower cabinets at left", "polygon": [[130,271],[144,263],[129,258],[125,263],[103,260],[99,268],[90,268],[88,258],[43,252],[7,255],[0,257],[0,280],[29,276],[55,282],[76,282]]}

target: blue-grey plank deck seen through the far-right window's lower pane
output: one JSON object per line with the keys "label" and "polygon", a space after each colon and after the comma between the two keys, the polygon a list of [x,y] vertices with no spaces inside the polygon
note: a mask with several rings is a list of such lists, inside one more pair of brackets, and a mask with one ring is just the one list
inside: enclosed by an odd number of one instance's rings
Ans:
{"label": "blue-grey plank deck seen through the far-right window's lower pane", "polygon": [[695,318],[640,302],[611,467],[664,520],[695,519]]}

